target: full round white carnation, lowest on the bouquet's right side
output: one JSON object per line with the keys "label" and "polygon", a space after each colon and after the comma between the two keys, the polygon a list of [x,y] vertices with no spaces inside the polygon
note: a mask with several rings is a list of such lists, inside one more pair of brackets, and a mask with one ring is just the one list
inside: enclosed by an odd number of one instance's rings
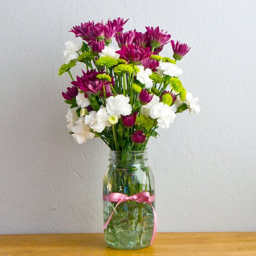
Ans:
{"label": "full round white carnation, lowest on the bouquet's right side", "polygon": [[157,119],[157,125],[159,127],[166,129],[169,128],[170,123],[174,122],[176,115],[172,107],[160,102],[150,109],[149,116],[153,119]]}

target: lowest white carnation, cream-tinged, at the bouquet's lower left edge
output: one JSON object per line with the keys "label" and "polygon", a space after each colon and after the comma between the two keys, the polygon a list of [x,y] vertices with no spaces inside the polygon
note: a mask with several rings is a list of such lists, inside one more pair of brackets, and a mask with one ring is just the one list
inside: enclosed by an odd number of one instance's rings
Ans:
{"label": "lowest white carnation, cream-tinged, at the bouquet's lower left edge", "polygon": [[74,140],[82,144],[87,141],[87,139],[92,139],[94,137],[94,133],[90,131],[90,127],[84,123],[84,118],[80,117],[77,121],[75,121],[75,126],[72,128],[72,136]]}

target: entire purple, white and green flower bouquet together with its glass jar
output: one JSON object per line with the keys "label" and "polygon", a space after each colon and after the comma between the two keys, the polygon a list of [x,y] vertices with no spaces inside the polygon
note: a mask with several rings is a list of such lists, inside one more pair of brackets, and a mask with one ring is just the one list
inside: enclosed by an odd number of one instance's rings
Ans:
{"label": "entire purple, white and green flower bouquet together with its glass jar", "polygon": [[[59,75],[67,72],[72,80],[62,95],[70,105],[67,128],[74,140],[99,137],[110,149],[103,178],[105,240],[114,248],[138,249],[153,242],[156,228],[148,140],[157,137],[157,128],[169,128],[176,114],[188,109],[195,115],[200,107],[178,78],[182,69],[176,62],[188,45],[170,40],[159,27],[123,32],[127,21],[73,27],[70,32],[82,42],[66,42]],[[168,43],[173,58],[160,55]],[[83,69],[74,79],[70,70],[78,63]]]}

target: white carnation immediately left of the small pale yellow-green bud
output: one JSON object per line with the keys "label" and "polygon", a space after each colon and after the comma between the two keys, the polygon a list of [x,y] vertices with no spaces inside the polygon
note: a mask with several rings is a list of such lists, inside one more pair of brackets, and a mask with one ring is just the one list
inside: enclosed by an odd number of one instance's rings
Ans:
{"label": "white carnation immediately left of the small pale yellow-green bud", "polygon": [[85,116],[84,123],[94,130],[94,132],[101,133],[106,126],[111,126],[108,122],[108,111],[102,107],[97,111],[91,111],[89,115]]}

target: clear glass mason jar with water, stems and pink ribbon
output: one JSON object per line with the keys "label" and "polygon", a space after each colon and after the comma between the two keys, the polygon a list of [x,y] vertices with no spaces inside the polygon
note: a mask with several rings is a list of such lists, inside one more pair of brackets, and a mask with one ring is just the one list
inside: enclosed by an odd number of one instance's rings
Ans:
{"label": "clear glass mason jar with water, stems and pink ribbon", "polygon": [[104,236],[115,249],[151,245],[156,231],[155,181],[147,152],[110,151],[103,177]]}

